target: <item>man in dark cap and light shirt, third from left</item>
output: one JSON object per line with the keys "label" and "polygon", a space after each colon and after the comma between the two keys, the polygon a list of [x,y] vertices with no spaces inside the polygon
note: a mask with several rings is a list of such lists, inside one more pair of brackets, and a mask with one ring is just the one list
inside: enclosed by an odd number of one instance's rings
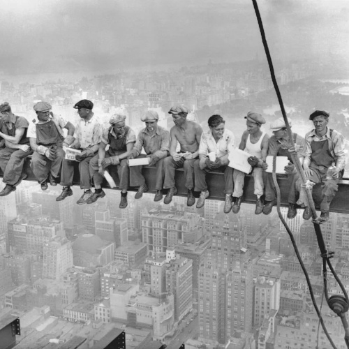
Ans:
{"label": "man in dark cap and light shirt, third from left", "polygon": [[[92,195],[91,178],[89,175],[89,162],[98,151],[101,143],[102,126],[98,119],[94,117],[92,108],[94,103],[87,99],[77,102],[74,108],[80,116],[79,123],[75,126],[75,141],[70,145],[73,149],[80,149],[81,154],[75,156],[79,161],[80,188],[84,190],[81,198],[77,200],[78,205],[85,204],[87,199]],[[70,186],[73,186],[74,161],[64,159],[61,170],[61,186],[63,191],[56,200],[61,201],[66,197],[73,195]]]}

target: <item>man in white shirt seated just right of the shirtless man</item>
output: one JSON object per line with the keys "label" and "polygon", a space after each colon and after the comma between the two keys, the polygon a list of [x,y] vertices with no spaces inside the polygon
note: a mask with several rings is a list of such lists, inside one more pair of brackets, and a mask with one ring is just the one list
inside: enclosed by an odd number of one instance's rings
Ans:
{"label": "man in white shirt seated just right of the shirtless man", "polygon": [[[224,172],[225,183],[225,205],[224,212],[228,213],[232,208],[232,172],[228,167],[228,153],[230,147],[234,146],[234,134],[225,129],[225,120],[221,115],[215,114],[209,117],[209,131],[202,133],[199,158],[194,162],[195,191],[200,191],[200,198],[196,207],[200,209],[205,205],[209,197],[207,190],[206,173],[208,171]],[[215,160],[210,160],[209,153],[214,153]]]}

